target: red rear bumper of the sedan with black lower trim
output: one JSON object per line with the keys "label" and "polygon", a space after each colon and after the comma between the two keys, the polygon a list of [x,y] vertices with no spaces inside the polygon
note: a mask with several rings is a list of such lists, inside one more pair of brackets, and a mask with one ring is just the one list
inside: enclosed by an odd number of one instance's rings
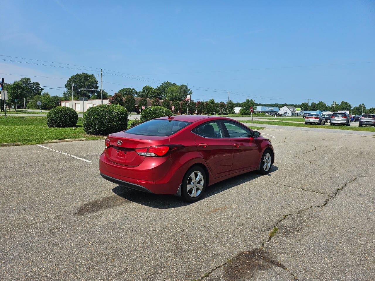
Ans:
{"label": "red rear bumper of the sedan with black lower trim", "polygon": [[99,158],[103,178],[115,184],[156,194],[177,194],[183,175],[169,156],[149,157],[139,166],[116,164],[105,156]]}

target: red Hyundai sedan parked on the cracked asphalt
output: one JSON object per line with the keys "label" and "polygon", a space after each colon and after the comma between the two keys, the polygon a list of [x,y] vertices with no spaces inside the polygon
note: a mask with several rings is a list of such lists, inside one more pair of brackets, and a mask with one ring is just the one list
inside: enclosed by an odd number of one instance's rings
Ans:
{"label": "red Hyundai sedan parked on the cracked asphalt", "polygon": [[111,134],[99,170],[103,178],[148,193],[199,200],[208,185],[274,161],[271,142],[225,117],[162,117]]}

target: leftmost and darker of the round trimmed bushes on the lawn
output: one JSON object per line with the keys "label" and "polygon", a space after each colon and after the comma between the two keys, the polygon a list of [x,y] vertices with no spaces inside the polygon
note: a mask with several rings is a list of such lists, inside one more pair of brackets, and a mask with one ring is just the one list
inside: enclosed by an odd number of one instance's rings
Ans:
{"label": "leftmost and darker of the round trimmed bushes on the lawn", "polygon": [[77,112],[70,107],[57,106],[47,113],[48,127],[73,127],[77,120]]}

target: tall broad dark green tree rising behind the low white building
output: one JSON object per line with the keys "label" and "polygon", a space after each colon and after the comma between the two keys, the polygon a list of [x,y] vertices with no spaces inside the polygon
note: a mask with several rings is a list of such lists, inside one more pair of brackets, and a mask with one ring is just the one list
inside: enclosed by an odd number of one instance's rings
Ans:
{"label": "tall broad dark green tree rising behind the low white building", "polygon": [[[63,96],[66,100],[69,100],[72,94],[72,82],[73,82],[73,94],[74,96],[78,97],[87,97],[90,98],[92,94],[98,94],[101,96],[101,91],[98,87],[98,80],[96,80],[95,75],[88,74],[88,73],[77,73],[71,76],[65,84],[65,88],[67,89]],[[66,98],[68,97],[68,98]],[[104,91],[103,91],[103,98],[104,98]]]}

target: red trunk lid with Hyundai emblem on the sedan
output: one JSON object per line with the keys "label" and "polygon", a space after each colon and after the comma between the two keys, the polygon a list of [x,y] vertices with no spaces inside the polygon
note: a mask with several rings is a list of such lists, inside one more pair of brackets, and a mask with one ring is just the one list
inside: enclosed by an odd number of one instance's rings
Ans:
{"label": "red trunk lid with Hyundai emblem on the sedan", "polygon": [[169,144],[168,136],[144,136],[118,132],[107,138],[110,140],[108,148],[105,149],[107,158],[116,164],[133,167],[141,164],[146,158],[136,153],[136,148]]}

